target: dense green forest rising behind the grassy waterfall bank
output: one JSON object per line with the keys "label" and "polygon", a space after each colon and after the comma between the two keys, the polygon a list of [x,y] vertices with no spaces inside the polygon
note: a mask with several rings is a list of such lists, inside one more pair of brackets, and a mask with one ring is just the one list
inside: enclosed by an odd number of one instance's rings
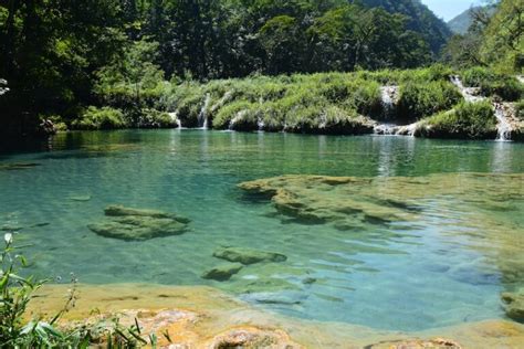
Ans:
{"label": "dense green forest rising behind the grassy waterfall bank", "polygon": [[[489,65],[503,55],[514,68],[522,42],[504,23],[522,24],[511,6],[481,34],[454,38],[447,60]],[[418,0],[2,1],[1,130],[71,126],[88,106],[108,105],[138,125],[168,84],[187,81],[420,67],[448,35]]]}

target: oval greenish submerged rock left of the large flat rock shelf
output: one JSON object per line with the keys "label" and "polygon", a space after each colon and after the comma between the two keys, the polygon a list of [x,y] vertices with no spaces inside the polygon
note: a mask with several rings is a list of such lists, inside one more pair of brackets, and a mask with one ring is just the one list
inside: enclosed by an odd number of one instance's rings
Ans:
{"label": "oval greenish submerged rock left of the large flat rock shelf", "polygon": [[120,205],[106,208],[105,214],[112,220],[90,224],[87,228],[98,235],[127,241],[179,235],[186,232],[189,222],[171,213]]}

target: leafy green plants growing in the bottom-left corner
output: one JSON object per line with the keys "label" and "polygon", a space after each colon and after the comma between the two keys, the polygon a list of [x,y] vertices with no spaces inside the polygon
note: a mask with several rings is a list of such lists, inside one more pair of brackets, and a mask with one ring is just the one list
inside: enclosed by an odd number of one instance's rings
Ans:
{"label": "leafy green plants growing in the bottom-left corner", "polygon": [[2,348],[90,348],[105,345],[107,348],[135,348],[138,345],[156,347],[154,335],[146,340],[136,325],[123,327],[117,318],[107,322],[60,326],[62,316],[76,302],[76,277],[71,276],[72,288],[64,307],[53,318],[30,319],[29,305],[35,293],[48,282],[24,277],[29,266],[20,251],[23,246],[13,244],[13,235],[4,235],[4,247],[0,254],[0,342]]}

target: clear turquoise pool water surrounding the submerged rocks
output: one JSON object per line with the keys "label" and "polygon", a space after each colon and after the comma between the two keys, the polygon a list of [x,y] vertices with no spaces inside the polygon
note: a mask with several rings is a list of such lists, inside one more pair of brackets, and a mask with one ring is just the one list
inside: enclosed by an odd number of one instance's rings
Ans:
{"label": "clear turquoise pool water surrounding the submerged rocks", "polygon": [[[39,148],[0,156],[0,166],[39,165],[0,170],[0,225],[22,228],[15,240],[32,244],[27,254],[42,276],[211,285],[291,316],[406,331],[502,318],[500,293],[521,282],[506,282],[501,267],[523,269],[521,260],[505,261],[491,235],[461,229],[471,208],[454,205],[460,198],[429,200],[428,214],[410,226],[369,224],[355,233],[283,216],[237,184],[291,173],[523,173],[524,145],[132,130],[59,135]],[[521,255],[523,186],[513,186],[510,212],[491,212],[511,221],[513,231],[501,239]],[[113,203],[176,212],[191,220],[190,231],[144,242],[91,232],[86,225]],[[223,263],[212,256],[219,245],[274,251],[287,261],[244,267],[229,282],[202,279]]]}

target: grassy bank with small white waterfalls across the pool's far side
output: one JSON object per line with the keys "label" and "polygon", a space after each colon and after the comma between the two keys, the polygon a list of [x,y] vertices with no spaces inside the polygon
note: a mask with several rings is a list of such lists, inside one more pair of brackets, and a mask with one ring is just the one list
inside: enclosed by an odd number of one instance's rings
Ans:
{"label": "grassy bank with small white waterfalls across the pool's far side", "polygon": [[[165,83],[129,110],[112,94],[61,128],[209,128],[322,135],[524,140],[524,84],[485,68],[252,76]],[[132,117],[130,114],[134,116]],[[59,121],[60,123],[60,121]]]}

